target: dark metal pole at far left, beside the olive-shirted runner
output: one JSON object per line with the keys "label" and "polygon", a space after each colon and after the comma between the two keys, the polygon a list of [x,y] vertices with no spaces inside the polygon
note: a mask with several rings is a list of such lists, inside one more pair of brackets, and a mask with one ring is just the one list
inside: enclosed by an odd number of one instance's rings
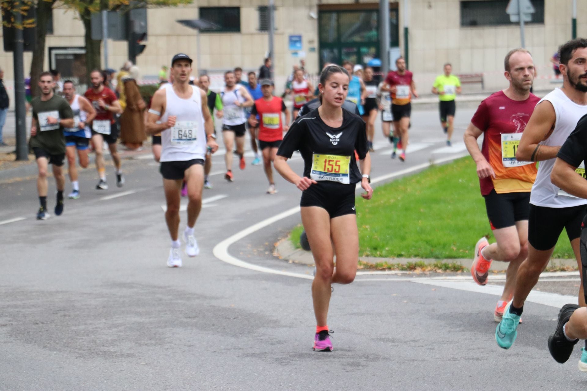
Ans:
{"label": "dark metal pole at far left, beside the olive-shirted runner", "polygon": [[[16,2],[16,9],[21,8],[21,1]],[[29,148],[26,145],[26,111],[25,111],[25,71],[23,52],[25,39],[22,30],[22,15],[14,13],[14,98],[16,120],[16,160],[28,160]],[[31,84],[36,80],[31,80]]]}

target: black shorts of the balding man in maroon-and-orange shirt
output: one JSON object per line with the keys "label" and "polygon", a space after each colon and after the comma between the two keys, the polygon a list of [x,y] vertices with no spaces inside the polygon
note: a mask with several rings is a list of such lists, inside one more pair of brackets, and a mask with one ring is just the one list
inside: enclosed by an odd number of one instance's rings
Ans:
{"label": "black shorts of the balding man in maroon-and-orange shirt", "polygon": [[512,227],[515,222],[528,220],[530,192],[498,194],[493,189],[483,198],[492,230]]}

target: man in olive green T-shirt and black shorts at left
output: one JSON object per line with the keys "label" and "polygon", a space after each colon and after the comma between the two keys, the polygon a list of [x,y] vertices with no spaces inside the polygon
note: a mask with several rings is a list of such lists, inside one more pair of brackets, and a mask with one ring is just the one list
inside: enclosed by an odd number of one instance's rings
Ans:
{"label": "man in olive green T-shirt and black shorts at left", "polygon": [[31,140],[29,147],[35,152],[39,176],[37,178],[37,190],[41,208],[37,213],[37,220],[49,218],[47,210],[47,170],[49,164],[53,165],[53,176],[57,184],[57,203],[55,215],[63,213],[63,189],[65,188],[65,176],[62,166],[65,163],[65,135],[63,128],[76,126],[73,120],[73,111],[68,101],[53,93],[53,76],[49,72],[43,72],[39,77],[41,96],[31,101],[33,108],[33,120],[31,127]]}

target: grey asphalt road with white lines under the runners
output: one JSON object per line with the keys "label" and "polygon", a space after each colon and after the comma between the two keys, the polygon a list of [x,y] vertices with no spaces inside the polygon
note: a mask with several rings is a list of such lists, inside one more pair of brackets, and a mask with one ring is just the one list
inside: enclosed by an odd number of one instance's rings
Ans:
{"label": "grey asphalt road with white lines under the runners", "polygon": [[[378,130],[373,178],[463,155],[472,114],[457,111],[446,148],[437,112],[414,111],[403,164]],[[532,294],[510,351],[494,341],[500,285],[360,274],[335,285],[335,351],[313,352],[311,268],[272,256],[300,221],[295,210],[275,217],[299,205],[295,186],[279,178],[279,193],[266,195],[262,166],[250,165],[226,183],[223,157],[214,157],[214,189],[204,192],[196,225],[200,256],[170,269],[161,176],[145,156],[123,162],[122,189],[112,166],[108,191],[94,189],[94,170],[82,172],[82,198],[44,222],[34,218],[35,181],[0,185],[0,390],[585,388],[581,344],[565,365],[546,349],[558,306],[573,300],[556,293],[572,295],[577,274],[548,277],[563,281]],[[301,159],[292,166],[301,172]]]}

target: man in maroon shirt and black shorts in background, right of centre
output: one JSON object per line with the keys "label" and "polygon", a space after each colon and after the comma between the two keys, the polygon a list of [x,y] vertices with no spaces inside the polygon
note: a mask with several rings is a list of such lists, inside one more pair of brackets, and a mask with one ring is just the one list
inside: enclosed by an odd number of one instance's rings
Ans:
{"label": "man in maroon shirt and black shorts in background, right of centre", "polygon": [[408,142],[407,131],[410,127],[411,116],[411,96],[418,97],[416,92],[416,83],[414,83],[413,73],[406,69],[406,60],[399,57],[396,60],[397,70],[392,70],[387,74],[385,83],[383,84],[383,91],[392,93],[392,114],[393,114],[393,128],[394,134],[400,137],[399,149],[400,160],[406,161],[406,149]]}

